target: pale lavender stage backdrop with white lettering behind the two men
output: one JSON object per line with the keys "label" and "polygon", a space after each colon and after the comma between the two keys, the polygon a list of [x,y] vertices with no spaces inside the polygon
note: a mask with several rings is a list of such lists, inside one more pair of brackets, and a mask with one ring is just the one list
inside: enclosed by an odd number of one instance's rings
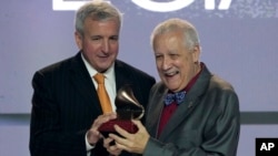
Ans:
{"label": "pale lavender stage backdrop with white lettering behind the two men", "polygon": [[[78,52],[73,40],[75,10],[85,2],[87,1],[1,1],[0,115],[30,114],[33,73]],[[240,111],[247,113],[247,118],[248,113],[259,112],[266,115],[269,115],[269,112],[277,113],[277,0],[110,0],[109,2],[123,13],[120,60],[155,75],[159,81],[150,48],[150,33],[166,19],[186,19],[199,31],[201,61],[212,73],[234,85],[239,96]],[[268,119],[265,118],[262,124],[269,122]],[[7,127],[3,123],[0,122],[0,125]],[[24,126],[28,126],[28,122]],[[252,126],[256,128],[254,134],[245,133],[254,129]],[[277,125],[270,127],[276,134],[269,134],[271,132],[267,131],[269,127],[256,125],[256,121],[251,126],[244,125],[245,132],[240,136],[242,146],[239,147],[239,153],[245,150],[244,139],[247,137],[254,139],[258,132],[262,132],[261,136],[277,137]],[[28,132],[28,128],[24,131]],[[242,134],[248,136],[245,137]],[[3,139],[0,139],[0,143],[1,141]],[[254,146],[251,144],[255,141],[247,142]],[[254,154],[252,148],[248,149],[251,154]],[[244,156],[244,153],[241,154]]]}

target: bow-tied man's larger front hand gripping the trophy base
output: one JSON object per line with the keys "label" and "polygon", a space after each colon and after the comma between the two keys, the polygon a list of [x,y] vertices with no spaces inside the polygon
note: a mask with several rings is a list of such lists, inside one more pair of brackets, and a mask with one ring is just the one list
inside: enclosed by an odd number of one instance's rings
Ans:
{"label": "bow-tied man's larger front hand gripping the trophy base", "polygon": [[115,125],[115,129],[120,134],[120,136],[116,134],[109,134],[109,137],[116,142],[116,149],[142,154],[150,135],[140,121],[132,119],[132,123],[138,127],[138,132],[136,134],[130,134],[120,126]]}

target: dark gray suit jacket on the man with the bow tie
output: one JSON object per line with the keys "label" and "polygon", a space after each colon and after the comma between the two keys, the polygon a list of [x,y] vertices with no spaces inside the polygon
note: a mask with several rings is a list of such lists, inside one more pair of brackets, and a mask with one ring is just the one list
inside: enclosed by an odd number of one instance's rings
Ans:
{"label": "dark gray suit jacket on the man with the bow tie", "polygon": [[145,156],[236,156],[239,139],[239,102],[232,86],[203,65],[197,82],[157,136],[163,96],[168,89],[153,85],[146,128],[152,136]]}

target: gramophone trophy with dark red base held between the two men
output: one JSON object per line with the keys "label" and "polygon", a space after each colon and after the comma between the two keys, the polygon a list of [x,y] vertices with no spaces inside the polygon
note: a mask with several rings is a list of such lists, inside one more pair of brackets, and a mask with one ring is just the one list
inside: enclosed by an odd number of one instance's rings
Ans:
{"label": "gramophone trophy with dark red base held between the two men", "polygon": [[125,85],[118,91],[115,105],[117,107],[117,118],[103,123],[99,127],[99,132],[107,137],[109,133],[116,133],[113,125],[118,125],[129,133],[136,133],[138,128],[131,119],[140,119],[143,116],[145,108],[136,100],[129,85]]}

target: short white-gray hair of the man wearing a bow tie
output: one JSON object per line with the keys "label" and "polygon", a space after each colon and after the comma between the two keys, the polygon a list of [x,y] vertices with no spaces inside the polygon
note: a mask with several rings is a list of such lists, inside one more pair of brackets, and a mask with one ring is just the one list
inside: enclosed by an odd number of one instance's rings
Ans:
{"label": "short white-gray hair of the man wearing a bow tie", "polygon": [[200,45],[196,28],[186,20],[175,18],[161,22],[153,29],[150,38],[152,49],[153,40],[157,35],[172,31],[181,31],[183,33],[183,42],[188,50],[192,50],[196,45]]}

